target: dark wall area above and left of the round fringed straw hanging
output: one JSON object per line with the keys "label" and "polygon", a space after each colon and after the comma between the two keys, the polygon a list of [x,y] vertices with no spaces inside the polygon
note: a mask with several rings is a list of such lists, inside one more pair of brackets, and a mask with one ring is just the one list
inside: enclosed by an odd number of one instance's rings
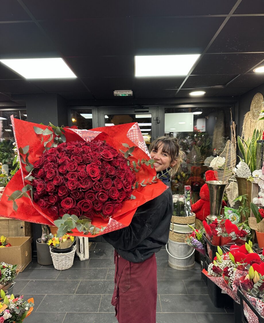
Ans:
{"label": "dark wall area above and left of the round fringed straw hanging", "polygon": [[238,130],[237,134],[241,136],[244,115],[250,110],[251,101],[256,93],[261,93],[264,96],[264,84],[258,86],[257,88],[248,91],[246,94],[241,95],[239,99],[239,109],[238,109]]}

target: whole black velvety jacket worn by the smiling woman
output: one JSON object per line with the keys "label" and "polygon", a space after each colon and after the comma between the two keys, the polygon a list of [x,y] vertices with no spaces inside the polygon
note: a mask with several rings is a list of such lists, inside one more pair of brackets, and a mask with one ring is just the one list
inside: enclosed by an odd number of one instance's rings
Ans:
{"label": "whole black velvety jacket worn by the smiling woman", "polygon": [[168,188],[138,207],[129,226],[103,237],[124,259],[133,263],[142,262],[166,245],[172,213],[172,192]]}

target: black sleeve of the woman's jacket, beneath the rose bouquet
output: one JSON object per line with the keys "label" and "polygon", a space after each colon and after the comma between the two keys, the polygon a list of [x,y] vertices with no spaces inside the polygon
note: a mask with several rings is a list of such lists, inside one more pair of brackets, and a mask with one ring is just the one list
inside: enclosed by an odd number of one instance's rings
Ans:
{"label": "black sleeve of the woman's jacket, beneath the rose bouquet", "polygon": [[114,248],[131,250],[152,233],[164,216],[172,214],[172,204],[172,194],[168,189],[138,207],[129,226],[104,234],[103,237]]}

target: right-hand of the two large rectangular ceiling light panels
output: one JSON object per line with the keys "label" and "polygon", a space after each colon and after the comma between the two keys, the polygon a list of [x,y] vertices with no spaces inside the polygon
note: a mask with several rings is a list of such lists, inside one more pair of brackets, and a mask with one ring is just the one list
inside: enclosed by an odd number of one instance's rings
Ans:
{"label": "right-hand of the two large rectangular ceiling light panels", "polygon": [[135,56],[135,76],[187,75],[200,54]]}

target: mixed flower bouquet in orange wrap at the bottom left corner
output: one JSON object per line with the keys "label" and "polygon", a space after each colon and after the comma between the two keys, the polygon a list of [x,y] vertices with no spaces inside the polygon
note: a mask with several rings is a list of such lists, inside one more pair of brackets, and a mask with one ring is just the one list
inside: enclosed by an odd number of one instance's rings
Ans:
{"label": "mixed flower bouquet in orange wrap at the bottom left corner", "polygon": [[2,289],[0,296],[0,323],[22,323],[33,311],[33,298],[24,302],[23,295],[5,295]]}

